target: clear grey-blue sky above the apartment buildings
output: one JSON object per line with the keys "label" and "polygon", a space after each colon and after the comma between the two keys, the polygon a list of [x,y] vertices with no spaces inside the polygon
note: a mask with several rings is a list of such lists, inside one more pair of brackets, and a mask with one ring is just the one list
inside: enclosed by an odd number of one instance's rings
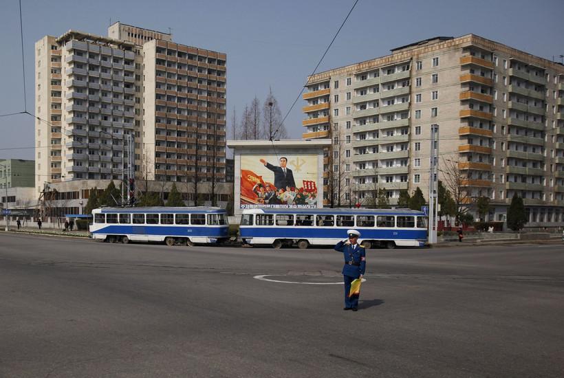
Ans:
{"label": "clear grey-blue sky above the apartment buildings", "polygon": [[[23,111],[19,2],[1,0],[0,115]],[[227,113],[231,127],[254,96],[272,89],[285,115],[354,0],[145,1],[21,0],[27,109],[34,104],[34,43],[67,30],[107,35],[110,22],[173,34],[173,41],[227,54]],[[477,34],[560,61],[564,54],[562,0],[360,0],[319,71],[384,56],[394,47],[433,36]],[[285,127],[301,138],[299,100]],[[228,133],[228,135],[232,135]],[[29,115],[0,117],[0,158],[34,158]]]}

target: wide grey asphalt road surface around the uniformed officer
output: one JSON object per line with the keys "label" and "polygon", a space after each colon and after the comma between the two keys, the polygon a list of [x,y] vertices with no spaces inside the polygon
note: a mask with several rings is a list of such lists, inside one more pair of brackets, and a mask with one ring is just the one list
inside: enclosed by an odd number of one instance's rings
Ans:
{"label": "wide grey asphalt road surface around the uniformed officer", "polygon": [[341,256],[0,234],[0,377],[562,377],[563,245]]}

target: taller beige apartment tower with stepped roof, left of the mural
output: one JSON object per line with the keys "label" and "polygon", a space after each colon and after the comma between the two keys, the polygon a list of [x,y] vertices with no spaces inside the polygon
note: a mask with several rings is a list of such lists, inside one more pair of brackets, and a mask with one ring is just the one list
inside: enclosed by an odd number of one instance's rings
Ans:
{"label": "taller beige apartment tower with stepped roof, left of the mural", "polygon": [[38,196],[47,183],[78,192],[67,206],[78,208],[92,184],[122,179],[129,140],[135,177],[149,190],[197,178],[199,192],[213,181],[226,200],[226,54],[119,22],[108,35],[70,30],[36,42]]}

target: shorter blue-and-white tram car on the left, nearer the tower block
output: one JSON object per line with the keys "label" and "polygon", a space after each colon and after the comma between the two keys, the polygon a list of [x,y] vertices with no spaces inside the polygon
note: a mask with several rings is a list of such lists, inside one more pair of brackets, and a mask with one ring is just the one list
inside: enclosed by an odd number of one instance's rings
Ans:
{"label": "shorter blue-and-white tram car on the left, nearer the tower block", "polygon": [[92,238],[111,243],[164,241],[166,245],[217,243],[228,238],[220,208],[99,208],[92,210]]}

